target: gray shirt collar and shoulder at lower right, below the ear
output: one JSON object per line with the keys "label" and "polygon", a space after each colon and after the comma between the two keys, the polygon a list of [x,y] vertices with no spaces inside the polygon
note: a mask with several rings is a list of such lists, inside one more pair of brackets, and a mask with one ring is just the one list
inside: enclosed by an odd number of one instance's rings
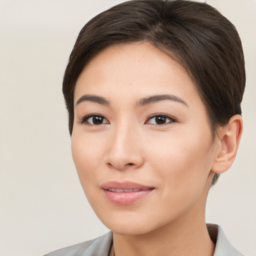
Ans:
{"label": "gray shirt collar and shoulder at lower right, below the ear", "polygon": [[211,240],[215,243],[213,256],[244,256],[228,241],[219,225],[207,224],[207,229]]}

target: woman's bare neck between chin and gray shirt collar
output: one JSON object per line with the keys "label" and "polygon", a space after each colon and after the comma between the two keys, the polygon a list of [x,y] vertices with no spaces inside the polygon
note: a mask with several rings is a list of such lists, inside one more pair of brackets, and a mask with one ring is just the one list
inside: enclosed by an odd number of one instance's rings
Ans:
{"label": "woman's bare neck between chin and gray shirt collar", "polygon": [[[212,256],[214,244],[210,240],[205,224],[197,227],[159,228],[145,235],[113,234],[115,256],[155,255],[205,255]],[[167,230],[164,230],[167,229]]]}

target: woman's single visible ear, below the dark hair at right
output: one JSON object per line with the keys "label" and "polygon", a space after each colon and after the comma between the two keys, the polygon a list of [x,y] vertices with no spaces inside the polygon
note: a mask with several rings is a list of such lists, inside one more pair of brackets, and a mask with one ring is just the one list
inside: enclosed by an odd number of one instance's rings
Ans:
{"label": "woman's single visible ear, below the dark hair at right", "polygon": [[232,165],[242,134],[242,117],[233,115],[228,123],[221,127],[216,137],[216,156],[211,166],[214,173],[222,173]]}

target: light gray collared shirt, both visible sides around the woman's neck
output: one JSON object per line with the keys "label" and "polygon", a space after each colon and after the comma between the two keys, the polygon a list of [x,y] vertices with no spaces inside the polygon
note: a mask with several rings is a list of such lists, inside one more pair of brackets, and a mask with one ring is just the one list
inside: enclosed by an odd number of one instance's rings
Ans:
{"label": "light gray collared shirt, both visible sides around the woman's neck", "polygon": [[[227,240],[220,226],[207,224],[210,238],[216,243],[213,256],[244,256]],[[113,235],[108,232],[96,239],[52,251],[44,256],[108,256]]]}

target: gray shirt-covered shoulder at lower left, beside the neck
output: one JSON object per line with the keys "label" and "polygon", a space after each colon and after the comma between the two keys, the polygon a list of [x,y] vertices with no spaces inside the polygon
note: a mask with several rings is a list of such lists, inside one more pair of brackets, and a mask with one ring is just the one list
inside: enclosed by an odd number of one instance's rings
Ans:
{"label": "gray shirt-covered shoulder at lower left, beside the neck", "polygon": [[62,249],[52,251],[44,256],[107,256],[112,245],[112,232],[108,232],[93,240],[77,243]]}

